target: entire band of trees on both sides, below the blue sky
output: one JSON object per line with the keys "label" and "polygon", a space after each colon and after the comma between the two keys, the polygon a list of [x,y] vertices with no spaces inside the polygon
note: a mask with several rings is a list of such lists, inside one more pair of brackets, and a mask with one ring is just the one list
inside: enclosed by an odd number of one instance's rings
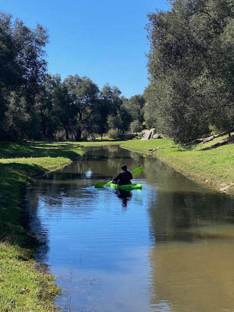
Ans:
{"label": "entire band of trees on both sides, below the blue sky", "polygon": [[[155,128],[190,146],[234,130],[234,0],[172,0],[148,15],[149,86],[130,99],[47,73],[48,34],[0,14],[0,140],[119,137]],[[197,142],[197,140],[195,141]]]}

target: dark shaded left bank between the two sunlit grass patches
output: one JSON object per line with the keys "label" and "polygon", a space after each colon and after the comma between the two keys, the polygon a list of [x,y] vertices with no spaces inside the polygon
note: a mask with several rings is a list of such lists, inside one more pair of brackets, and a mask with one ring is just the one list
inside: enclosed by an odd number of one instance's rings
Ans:
{"label": "dark shaded left bank between the two sunlit grass patches", "polygon": [[26,230],[24,186],[31,173],[40,173],[38,165],[0,163],[0,241],[34,249],[36,238]]}

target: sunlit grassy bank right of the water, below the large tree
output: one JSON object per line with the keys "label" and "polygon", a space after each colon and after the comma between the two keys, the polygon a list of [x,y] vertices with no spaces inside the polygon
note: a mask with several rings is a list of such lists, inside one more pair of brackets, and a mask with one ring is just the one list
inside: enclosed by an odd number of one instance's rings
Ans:
{"label": "sunlit grassy bank right of the water, below the large tree", "polygon": [[[198,145],[192,151],[175,147],[169,139],[133,140],[122,143],[121,147],[153,154],[183,175],[206,181],[217,190],[225,188],[227,193],[234,195],[234,144],[201,151],[202,147],[210,146],[223,138],[219,137],[209,143]],[[149,149],[158,150],[150,153]]]}

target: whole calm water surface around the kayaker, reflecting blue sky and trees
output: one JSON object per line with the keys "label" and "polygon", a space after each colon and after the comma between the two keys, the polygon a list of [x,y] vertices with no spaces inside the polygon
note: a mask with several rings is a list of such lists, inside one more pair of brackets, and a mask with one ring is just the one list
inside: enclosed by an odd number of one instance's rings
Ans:
{"label": "whole calm water surface around the kayaker, reflecting blue sky and trees", "polygon": [[[61,311],[234,309],[234,200],[118,146],[84,153],[28,194]],[[143,165],[141,191],[93,187],[123,163]]]}

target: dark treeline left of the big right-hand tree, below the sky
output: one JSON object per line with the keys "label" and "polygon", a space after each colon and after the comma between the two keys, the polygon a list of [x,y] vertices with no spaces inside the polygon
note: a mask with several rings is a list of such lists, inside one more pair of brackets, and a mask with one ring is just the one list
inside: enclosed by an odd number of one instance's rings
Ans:
{"label": "dark treeline left of the big right-hand tree, below the sky", "polygon": [[47,73],[46,29],[0,13],[0,140],[119,137],[143,129],[144,98],[90,78]]}

